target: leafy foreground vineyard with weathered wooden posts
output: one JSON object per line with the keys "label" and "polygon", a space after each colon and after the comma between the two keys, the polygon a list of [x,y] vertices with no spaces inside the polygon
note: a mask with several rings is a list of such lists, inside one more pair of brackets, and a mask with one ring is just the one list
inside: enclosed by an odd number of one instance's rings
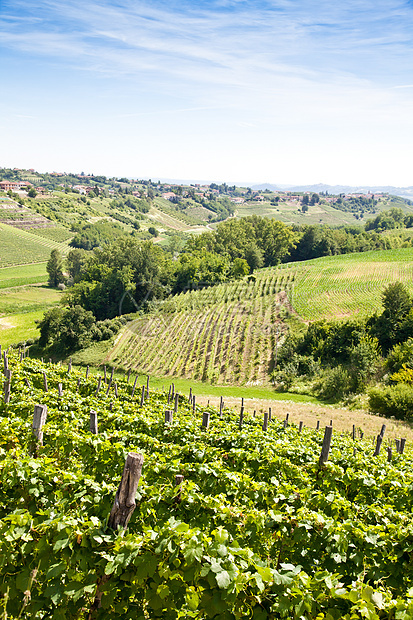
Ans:
{"label": "leafy foreground vineyard with weathered wooden posts", "polygon": [[[376,455],[359,431],[328,450],[315,425],[220,415],[172,386],[5,365],[2,618],[412,617],[413,460],[384,429]],[[141,470],[122,477],[125,459]]]}

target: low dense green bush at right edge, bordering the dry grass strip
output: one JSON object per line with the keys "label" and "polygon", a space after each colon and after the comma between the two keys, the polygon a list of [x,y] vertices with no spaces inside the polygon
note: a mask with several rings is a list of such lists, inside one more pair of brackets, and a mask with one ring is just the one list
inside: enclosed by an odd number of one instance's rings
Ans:
{"label": "low dense green bush at right edge, bordering the dry grass strip", "polygon": [[399,420],[413,419],[413,387],[400,383],[384,388],[372,388],[369,407],[374,413],[393,416]]}

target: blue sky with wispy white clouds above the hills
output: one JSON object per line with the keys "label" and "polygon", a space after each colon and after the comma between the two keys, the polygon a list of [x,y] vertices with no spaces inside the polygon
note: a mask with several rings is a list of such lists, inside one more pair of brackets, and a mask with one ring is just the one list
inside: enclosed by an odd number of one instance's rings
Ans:
{"label": "blue sky with wispy white clouds above the hills", "polygon": [[1,0],[0,165],[413,185],[413,2]]}

